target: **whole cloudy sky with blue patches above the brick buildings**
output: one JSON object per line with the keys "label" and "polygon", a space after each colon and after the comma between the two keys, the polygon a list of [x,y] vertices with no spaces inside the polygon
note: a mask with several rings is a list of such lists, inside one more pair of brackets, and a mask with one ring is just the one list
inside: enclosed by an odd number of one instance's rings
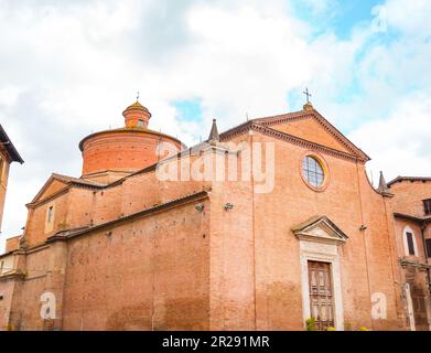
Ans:
{"label": "whole cloudy sky with blue patches above the brick buildings", "polygon": [[224,130],[300,110],[309,87],[375,179],[431,175],[430,13],[427,0],[0,0],[0,122],[25,160],[0,240],[52,172],[80,175],[78,141],[120,127],[137,90],[150,127],[191,145],[214,117]]}

